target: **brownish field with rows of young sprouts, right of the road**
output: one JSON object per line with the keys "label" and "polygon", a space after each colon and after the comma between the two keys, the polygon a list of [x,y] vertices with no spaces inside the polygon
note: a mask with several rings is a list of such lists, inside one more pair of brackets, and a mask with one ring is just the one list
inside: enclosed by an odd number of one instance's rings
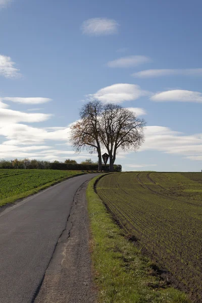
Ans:
{"label": "brownish field with rows of young sprouts, right of the road", "polygon": [[115,173],[97,193],[175,286],[202,301],[202,173]]}

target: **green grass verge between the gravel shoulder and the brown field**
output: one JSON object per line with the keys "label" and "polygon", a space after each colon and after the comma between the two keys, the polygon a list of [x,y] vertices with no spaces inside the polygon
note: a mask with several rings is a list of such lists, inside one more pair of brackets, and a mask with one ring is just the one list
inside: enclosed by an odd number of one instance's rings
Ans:
{"label": "green grass verge between the gravel shoulder and the brown field", "polygon": [[87,187],[91,229],[91,256],[99,303],[190,303],[186,294],[161,280],[155,266],[141,255],[107,212],[94,191]]}

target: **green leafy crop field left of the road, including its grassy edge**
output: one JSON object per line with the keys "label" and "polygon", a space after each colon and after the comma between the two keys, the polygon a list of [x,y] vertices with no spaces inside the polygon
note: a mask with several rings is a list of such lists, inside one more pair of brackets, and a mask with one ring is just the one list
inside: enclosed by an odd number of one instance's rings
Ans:
{"label": "green leafy crop field left of the road, including its grassy edge", "polygon": [[12,203],[81,171],[0,169],[0,206]]}

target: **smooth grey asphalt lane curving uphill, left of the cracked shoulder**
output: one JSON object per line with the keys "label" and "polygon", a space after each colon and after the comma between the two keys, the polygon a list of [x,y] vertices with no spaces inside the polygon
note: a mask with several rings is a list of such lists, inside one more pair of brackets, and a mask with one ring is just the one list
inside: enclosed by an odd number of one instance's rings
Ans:
{"label": "smooth grey asphalt lane curving uphill, left of the cracked shoulder", "polygon": [[66,228],[74,195],[97,174],[49,187],[0,214],[0,302],[34,301],[58,239]]}

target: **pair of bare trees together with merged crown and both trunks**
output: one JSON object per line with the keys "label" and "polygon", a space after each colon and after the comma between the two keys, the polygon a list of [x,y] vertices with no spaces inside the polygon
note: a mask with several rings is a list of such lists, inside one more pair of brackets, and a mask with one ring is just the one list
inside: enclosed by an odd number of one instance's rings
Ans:
{"label": "pair of bare trees together with merged crown and both trunks", "polygon": [[144,142],[145,125],[144,119],[127,108],[94,100],[80,110],[80,120],[71,128],[71,141],[78,152],[81,148],[97,151],[98,170],[102,168],[101,148],[107,149],[113,171],[119,149],[137,150]]}

